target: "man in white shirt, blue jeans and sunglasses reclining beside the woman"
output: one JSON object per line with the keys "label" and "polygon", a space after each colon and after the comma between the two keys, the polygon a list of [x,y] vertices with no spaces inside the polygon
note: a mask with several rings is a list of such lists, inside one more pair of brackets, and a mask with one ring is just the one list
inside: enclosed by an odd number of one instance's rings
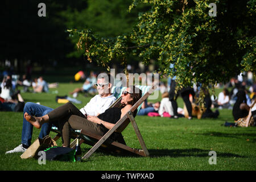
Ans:
{"label": "man in white shirt, blue jeans and sunglasses reclining beside the woman", "polygon": [[[80,114],[89,114],[89,115],[99,115],[104,113],[106,109],[115,101],[115,97],[110,93],[112,84],[110,83],[110,74],[107,76],[99,75],[97,80],[97,91],[98,94],[94,96],[86,106],[80,109]],[[33,115],[35,117],[41,117],[48,114],[53,109],[47,106],[35,104],[32,102],[27,102],[23,109],[23,115],[25,113]],[[58,123],[55,122],[55,126],[58,126]],[[42,125],[39,138],[43,139],[51,131],[52,123],[44,123]],[[23,117],[23,126],[22,126],[22,140],[21,144],[18,147],[15,147],[14,150],[7,151],[6,154],[11,154],[15,152],[24,152],[31,145],[33,126],[26,121]]]}

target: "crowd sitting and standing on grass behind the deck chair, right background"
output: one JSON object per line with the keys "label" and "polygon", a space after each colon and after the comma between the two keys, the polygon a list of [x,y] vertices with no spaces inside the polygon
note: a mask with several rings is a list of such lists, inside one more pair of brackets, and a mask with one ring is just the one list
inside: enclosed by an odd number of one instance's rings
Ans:
{"label": "crowd sitting and standing on grass behind the deck chair, right background", "polygon": [[[234,120],[243,118],[250,114],[250,107],[253,107],[256,93],[256,83],[250,85],[250,91],[246,89],[246,82],[239,82],[237,79],[233,79],[234,88],[231,92],[227,88],[224,88],[222,92],[218,94],[217,98],[210,96],[209,90],[201,88],[199,85],[194,88],[183,88],[175,92],[176,80],[171,79],[170,90],[167,92],[162,85],[159,90],[164,90],[162,93],[162,101],[155,104],[142,105],[142,109],[139,111],[139,115],[148,115],[151,117],[161,116],[170,118],[186,117],[192,119],[192,117],[200,118],[217,118],[220,112],[218,109],[226,108],[233,109]],[[233,84],[230,84],[233,85]],[[200,90],[204,93],[204,106],[200,107],[195,103],[195,97],[198,97]],[[162,92],[162,91],[161,91]],[[250,93],[250,96],[249,96]],[[241,101],[241,94],[243,99]],[[177,107],[177,97],[180,96],[184,102],[184,108]],[[241,107],[237,107],[241,105]],[[215,111],[212,109],[216,108]],[[241,112],[243,110],[243,112]],[[251,108],[251,111],[254,111]],[[243,114],[241,114],[243,113]],[[246,125],[247,126],[247,125]]]}

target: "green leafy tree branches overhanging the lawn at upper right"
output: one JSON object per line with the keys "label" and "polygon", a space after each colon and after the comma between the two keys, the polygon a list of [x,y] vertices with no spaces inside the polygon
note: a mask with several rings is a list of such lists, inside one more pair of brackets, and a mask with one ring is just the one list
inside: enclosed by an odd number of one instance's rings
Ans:
{"label": "green leafy tree branches overhanging the lawn at upper right", "polygon": [[[208,14],[212,2],[217,16]],[[157,71],[177,76],[180,86],[215,84],[242,71],[255,72],[255,1],[134,0],[129,10],[141,3],[151,9],[140,13],[126,34],[102,37],[89,28],[69,30],[79,35],[77,47],[88,60],[109,68],[113,59],[126,64],[130,53],[146,65],[155,58]]]}

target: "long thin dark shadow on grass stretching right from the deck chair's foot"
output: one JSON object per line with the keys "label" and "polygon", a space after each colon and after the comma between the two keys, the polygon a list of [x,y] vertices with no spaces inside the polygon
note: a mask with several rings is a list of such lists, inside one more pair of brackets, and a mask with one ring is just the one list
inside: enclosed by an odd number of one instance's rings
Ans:
{"label": "long thin dark shadow on grass stretching right from the deck chair's foot", "polygon": [[[190,156],[195,156],[195,157],[208,157],[209,156],[209,150],[202,150],[199,148],[188,148],[188,149],[151,149],[148,150],[150,153],[151,158],[156,158],[156,157],[162,157],[162,156],[170,156],[171,158],[179,158],[179,157],[190,157]],[[217,156],[221,157],[238,157],[238,158],[245,158],[244,156],[240,156],[237,154],[232,154],[232,153],[225,153],[225,152],[218,152],[216,151]]]}

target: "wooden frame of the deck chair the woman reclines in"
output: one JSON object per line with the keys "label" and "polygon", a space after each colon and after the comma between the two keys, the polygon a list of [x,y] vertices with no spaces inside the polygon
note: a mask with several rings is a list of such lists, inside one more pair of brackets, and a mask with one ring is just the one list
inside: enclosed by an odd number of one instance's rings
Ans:
{"label": "wooden frame of the deck chair the woman reclines in", "polygon": [[[146,144],[144,143],[144,140],[142,138],[141,132],[139,131],[139,128],[137,126],[137,123],[135,122],[135,119],[133,117],[133,112],[146,100],[148,96],[152,92],[154,92],[156,88],[156,85],[151,86],[151,88],[148,89],[148,91],[141,97],[139,101],[137,101],[133,107],[122,117],[119,119],[117,123],[115,123],[114,127],[110,129],[103,137],[99,135],[94,135],[93,133],[90,133],[88,131],[80,130],[80,131],[74,131],[71,132],[71,138],[75,139],[71,143],[70,147],[75,148],[76,145],[76,137],[77,135],[80,136],[79,143],[86,143],[91,146],[93,146],[83,157],[82,159],[88,159],[90,155],[93,154],[98,148],[101,148],[102,150],[106,151],[114,151],[116,153],[121,152],[128,152],[129,154],[135,154],[135,155],[141,155],[141,156],[149,156]],[[117,100],[110,106],[115,107],[118,105],[118,103],[121,101],[121,97],[118,97]],[[122,131],[125,130],[127,125],[129,123],[132,123],[135,134],[137,135],[137,138],[139,140],[139,143],[141,144],[142,149],[137,148],[131,148],[126,145],[125,140],[122,137]],[[59,130],[52,129],[51,131],[54,131],[57,133],[57,135],[53,138],[54,140],[57,140],[61,137]],[[110,135],[113,133],[119,134],[116,141],[110,139]]]}

